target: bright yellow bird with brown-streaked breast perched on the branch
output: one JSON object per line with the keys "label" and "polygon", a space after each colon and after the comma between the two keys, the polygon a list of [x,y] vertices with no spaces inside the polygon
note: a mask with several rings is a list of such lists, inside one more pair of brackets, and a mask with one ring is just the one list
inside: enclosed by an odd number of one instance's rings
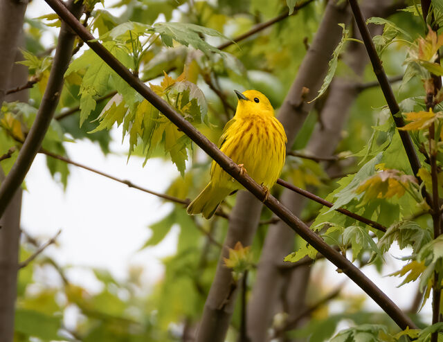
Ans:
{"label": "bright yellow bird with brown-streaked breast perched on the branch", "polygon": [[[237,110],[224,127],[219,148],[269,193],[284,165],[287,143],[284,128],[275,118],[271,102],[260,91],[235,90],[235,93]],[[190,203],[188,214],[203,213],[210,219],[221,201],[241,188],[240,183],[213,161],[210,182]]]}

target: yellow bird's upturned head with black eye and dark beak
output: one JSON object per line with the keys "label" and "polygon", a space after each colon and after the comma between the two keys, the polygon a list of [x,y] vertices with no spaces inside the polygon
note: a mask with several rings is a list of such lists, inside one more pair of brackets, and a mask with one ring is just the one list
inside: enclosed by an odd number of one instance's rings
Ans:
{"label": "yellow bird's upturned head with black eye and dark beak", "polygon": [[268,98],[260,91],[246,90],[243,93],[235,90],[238,98],[235,115],[260,114],[274,116],[274,109]]}

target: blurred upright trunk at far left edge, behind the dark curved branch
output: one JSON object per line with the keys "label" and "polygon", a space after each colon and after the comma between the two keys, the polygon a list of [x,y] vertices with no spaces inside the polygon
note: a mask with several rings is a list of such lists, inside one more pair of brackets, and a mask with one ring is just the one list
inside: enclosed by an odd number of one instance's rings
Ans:
{"label": "blurred upright trunk at far left edge, behind the dark curved branch", "polygon": [[[20,44],[21,42],[21,44]],[[22,33],[17,44],[24,45]],[[18,49],[15,50],[15,61],[23,60]],[[28,80],[28,68],[14,64],[10,73],[8,87],[17,87]],[[28,102],[28,90],[6,96],[5,100]],[[0,167],[0,183],[5,178]],[[8,208],[0,219],[0,342],[12,341],[14,334],[15,297],[17,296],[17,270],[19,261],[19,236],[21,194],[19,189],[12,197]]]}

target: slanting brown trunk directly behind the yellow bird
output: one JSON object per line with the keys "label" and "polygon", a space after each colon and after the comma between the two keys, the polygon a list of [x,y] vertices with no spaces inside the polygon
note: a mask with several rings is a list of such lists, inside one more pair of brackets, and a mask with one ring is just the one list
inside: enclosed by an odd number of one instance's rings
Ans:
{"label": "slanting brown trunk directly behind the yellow bird", "polygon": [[[308,104],[306,99],[302,97],[302,89],[303,87],[311,89],[310,98],[314,98],[315,93],[320,89],[332,51],[334,51],[341,38],[342,29],[338,24],[347,22],[349,18],[350,15],[343,9],[343,6],[336,6],[335,1],[329,1],[316,38],[307,51],[297,78],[279,111],[279,119],[287,132],[288,146],[292,145],[296,133],[301,128],[313,105]],[[288,196],[292,197],[293,195]],[[233,248],[237,241],[242,242],[244,246],[251,244],[257,230],[261,210],[262,204],[260,201],[254,199],[247,192],[239,192],[237,203],[230,215],[232,219],[230,220],[225,246]],[[285,226],[283,234],[291,235],[289,240],[292,242],[293,233],[289,232],[285,224],[282,225]],[[226,253],[226,250],[224,253]],[[221,262],[226,256],[224,253],[220,257],[215,279],[206,299],[197,341],[224,341],[228,330],[230,316],[232,316],[233,305],[235,304],[236,291],[228,299],[228,304],[222,305],[226,301],[226,293],[233,281],[230,271]],[[248,321],[250,321],[250,316],[251,314],[248,314]]]}

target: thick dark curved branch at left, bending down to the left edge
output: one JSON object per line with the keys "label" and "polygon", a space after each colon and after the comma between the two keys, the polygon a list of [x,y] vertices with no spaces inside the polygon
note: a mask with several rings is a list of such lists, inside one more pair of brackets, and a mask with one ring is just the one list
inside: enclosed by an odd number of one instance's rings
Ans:
{"label": "thick dark curved branch at left, bending down to the left edge", "polygon": [[[82,12],[82,3],[70,0],[68,7],[74,12],[74,15],[69,12],[69,9],[64,5],[64,10],[77,20]],[[42,103],[37,112],[37,116],[31,127],[26,141],[17,156],[17,161],[12,165],[12,169],[6,176],[6,179],[0,186],[0,217],[6,210],[12,196],[15,194],[20,184],[23,182],[31,163],[39,150],[40,145],[49,124],[53,118],[55,108],[57,107],[60,93],[63,87],[63,75],[66,71],[69,61],[71,60],[71,52],[75,40],[75,33],[73,33],[66,24],[62,25],[60,35],[57,43],[57,51],[55,52],[53,66],[49,75],[48,85],[44,92]]]}

